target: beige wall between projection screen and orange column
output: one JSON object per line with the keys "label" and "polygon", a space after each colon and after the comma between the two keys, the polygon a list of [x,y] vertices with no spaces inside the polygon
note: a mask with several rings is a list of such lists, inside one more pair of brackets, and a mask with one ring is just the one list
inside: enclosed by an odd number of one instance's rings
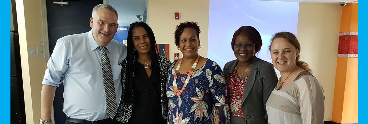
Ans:
{"label": "beige wall between projection screen and orange column", "polygon": [[297,38],[301,45],[301,60],[309,64],[323,87],[325,121],[332,120],[340,19],[339,4],[299,4]]}

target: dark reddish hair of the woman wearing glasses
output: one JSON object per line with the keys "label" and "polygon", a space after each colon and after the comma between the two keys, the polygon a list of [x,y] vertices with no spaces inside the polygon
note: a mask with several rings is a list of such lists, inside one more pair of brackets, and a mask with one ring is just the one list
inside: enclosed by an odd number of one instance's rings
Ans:
{"label": "dark reddish hair of the woman wearing glasses", "polygon": [[238,30],[235,31],[233,35],[233,40],[231,40],[231,48],[234,50],[235,39],[240,35],[245,34],[249,40],[251,40],[255,46],[255,54],[261,50],[262,47],[262,38],[261,34],[259,34],[258,30],[252,26],[241,26]]}

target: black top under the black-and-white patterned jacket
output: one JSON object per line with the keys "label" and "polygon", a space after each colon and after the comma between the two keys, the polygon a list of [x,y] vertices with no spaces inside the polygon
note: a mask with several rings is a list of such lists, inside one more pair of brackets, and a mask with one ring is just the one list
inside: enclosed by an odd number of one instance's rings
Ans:
{"label": "black top under the black-and-white patterned jacket", "polygon": [[[163,124],[166,120],[162,117],[161,95],[159,92],[153,94],[150,87],[151,78],[147,76],[142,63],[135,62],[133,84],[133,110],[128,124]],[[152,72],[153,73],[153,72]],[[151,77],[151,76],[150,76]]]}

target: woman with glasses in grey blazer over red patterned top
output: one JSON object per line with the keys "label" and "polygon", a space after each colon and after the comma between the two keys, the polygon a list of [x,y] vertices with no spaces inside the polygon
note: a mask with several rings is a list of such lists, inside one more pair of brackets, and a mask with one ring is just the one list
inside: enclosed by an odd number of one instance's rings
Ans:
{"label": "woman with glasses in grey blazer over red patterned top", "polygon": [[227,83],[231,124],[266,124],[266,102],[277,84],[273,65],[255,56],[262,39],[251,26],[240,27],[231,48],[236,60],[227,62],[223,74]]}

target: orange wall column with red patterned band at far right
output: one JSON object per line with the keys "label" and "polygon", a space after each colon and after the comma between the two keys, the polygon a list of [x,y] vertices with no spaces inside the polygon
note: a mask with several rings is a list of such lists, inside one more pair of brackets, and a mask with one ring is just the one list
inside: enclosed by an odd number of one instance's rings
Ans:
{"label": "orange wall column with red patterned band at far right", "polygon": [[[347,3],[342,7],[340,33],[358,32],[358,3]],[[345,37],[345,38],[344,38]],[[356,35],[339,37],[339,54],[358,54],[355,48]],[[344,39],[346,41],[344,41]],[[342,46],[341,44],[347,43]],[[343,48],[350,51],[343,52]],[[356,50],[351,52],[351,50]],[[335,93],[333,97],[332,121],[336,123],[358,123],[358,58],[337,57]]]}

